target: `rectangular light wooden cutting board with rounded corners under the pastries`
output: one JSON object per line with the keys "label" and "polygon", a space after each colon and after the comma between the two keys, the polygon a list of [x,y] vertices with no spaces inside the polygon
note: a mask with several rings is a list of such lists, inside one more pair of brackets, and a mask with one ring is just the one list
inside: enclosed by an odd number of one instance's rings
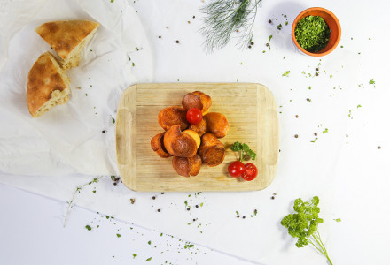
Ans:
{"label": "rectangular light wooden cutting board with rounded corners under the pastries", "polygon": [[[182,177],[172,168],[172,158],[160,158],[151,139],[164,132],[157,116],[160,110],[181,105],[183,95],[192,91],[210,95],[210,111],[223,113],[229,121],[222,164],[202,165],[199,175]],[[235,141],[256,150],[259,175],[253,181],[231,178],[229,163],[238,153],[230,150]],[[123,184],[134,191],[202,192],[257,191],[269,186],[277,171],[279,124],[277,105],[267,87],[250,83],[137,84],[121,95],[116,118],[116,152]]]}

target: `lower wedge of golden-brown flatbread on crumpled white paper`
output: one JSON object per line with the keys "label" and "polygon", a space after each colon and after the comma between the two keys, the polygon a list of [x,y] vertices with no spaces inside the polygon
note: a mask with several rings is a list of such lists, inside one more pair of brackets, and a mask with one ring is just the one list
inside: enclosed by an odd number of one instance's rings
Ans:
{"label": "lower wedge of golden-brown flatbread on crumpled white paper", "polygon": [[69,99],[70,79],[61,69],[57,59],[49,52],[43,53],[28,72],[27,106],[33,117],[40,117],[52,107],[63,105]]}

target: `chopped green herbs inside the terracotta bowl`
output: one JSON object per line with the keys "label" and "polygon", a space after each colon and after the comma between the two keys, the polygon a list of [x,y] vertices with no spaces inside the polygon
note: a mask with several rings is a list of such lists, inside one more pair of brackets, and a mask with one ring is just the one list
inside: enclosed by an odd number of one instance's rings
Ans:
{"label": "chopped green herbs inside the terracotta bowl", "polygon": [[330,36],[331,29],[320,16],[308,16],[300,19],[295,27],[295,38],[298,44],[309,52],[324,49]]}

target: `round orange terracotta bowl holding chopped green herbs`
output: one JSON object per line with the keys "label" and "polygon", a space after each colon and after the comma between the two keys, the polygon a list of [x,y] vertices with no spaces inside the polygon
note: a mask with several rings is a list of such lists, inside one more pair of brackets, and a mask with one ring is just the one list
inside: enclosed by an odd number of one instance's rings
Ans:
{"label": "round orange terracotta bowl holding chopped green herbs", "polygon": [[[297,27],[297,24],[300,19],[303,19],[308,16],[322,17],[331,29],[331,36],[329,37],[328,44],[324,49],[321,49],[317,52],[309,52],[306,49],[303,49],[302,47],[300,47],[300,44],[298,44],[297,40],[295,39],[295,27]],[[337,45],[339,44],[340,38],[341,26],[339,25],[339,19],[337,19],[331,11],[322,7],[312,7],[305,11],[302,11],[292,24],[292,41],[295,43],[298,49],[300,49],[301,52],[312,57],[323,57],[324,55],[331,53],[333,49],[336,49]]]}

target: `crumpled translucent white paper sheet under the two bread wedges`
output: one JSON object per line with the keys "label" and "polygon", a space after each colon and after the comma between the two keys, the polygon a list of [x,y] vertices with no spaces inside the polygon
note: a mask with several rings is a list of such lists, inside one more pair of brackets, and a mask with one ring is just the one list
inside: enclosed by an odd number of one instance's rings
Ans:
{"label": "crumpled translucent white paper sheet under the two bread wedges", "polygon": [[[0,73],[0,171],[117,174],[114,119],[121,92],[152,79],[152,53],[136,11],[125,1],[24,3],[6,3],[2,10],[10,21],[2,23],[6,27],[0,39],[2,55],[8,53]],[[28,71],[43,52],[55,54],[35,27],[63,19],[92,19],[100,27],[80,65],[66,72],[70,100],[33,118],[27,110]]]}

